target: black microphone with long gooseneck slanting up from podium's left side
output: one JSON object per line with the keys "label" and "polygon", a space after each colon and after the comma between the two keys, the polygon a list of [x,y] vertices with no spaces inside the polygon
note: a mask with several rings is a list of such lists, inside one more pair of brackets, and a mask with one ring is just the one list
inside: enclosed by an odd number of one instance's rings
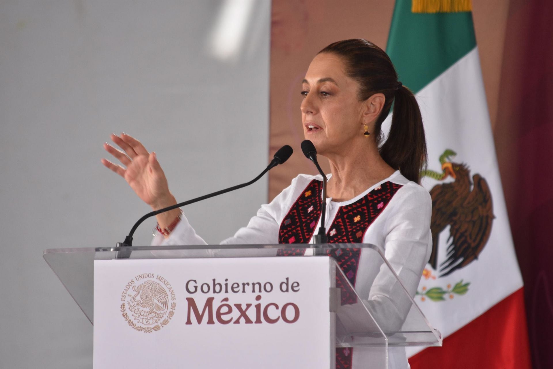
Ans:
{"label": "black microphone with long gooseneck slanting up from podium's left side", "polygon": [[[217,192],[214,192],[214,193],[211,193],[211,194],[207,194],[207,195],[204,195],[204,196],[200,196],[199,198],[195,198],[195,199],[192,199],[192,200],[187,200],[187,201],[184,201],[184,202],[179,202],[179,204],[175,204],[175,205],[171,205],[171,206],[168,206],[168,207],[164,207],[163,209],[159,209],[159,210],[155,210],[155,211],[149,212],[148,214],[144,215],[142,218],[140,218],[140,219],[134,224],[134,226],[131,228],[131,232],[129,232],[129,235],[128,235],[127,237],[125,237],[125,241],[123,241],[122,243],[121,243],[121,242],[117,242],[117,247],[132,246],[134,231],[136,231],[136,229],[138,228],[138,226],[140,225],[140,223],[142,223],[143,221],[145,221],[145,220],[148,219],[149,217],[152,217],[152,216],[161,214],[162,212],[165,212],[165,211],[177,209],[178,207],[181,207],[181,206],[190,205],[190,204],[193,204],[194,202],[198,202],[198,201],[201,201],[201,200],[209,199],[209,198],[212,198],[213,196],[226,194],[227,192],[234,191],[234,190],[238,190],[238,189],[241,189],[241,188],[243,188],[243,187],[249,186],[249,185],[251,185],[252,183],[254,183],[255,181],[257,181],[259,178],[261,178],[261,177],[262,177],[265,173],[267,173],[269,170],[271,170],[272,168],[276,167],[276,165],[284,164],[284,162],[286,162],[286,160],[288,160],[288,158],[290,158],[290,156],[292,155],[293,152],[294,152],[294,150],[290,147],[290,145],[284,145],[283,147],[281,147],[281,148],[274,154],[273,160],[271,160],[270,164],[267,165],[267,168],[265,168],[265,170],[263,170],[263,171],[261,172],[261,174],[259,174],[257,177],[255,177],[254,179],[252,179],[252,180],[249,181],[249,182],[246,182],[246,183],[243,183],[243,184],[239,184],[239,185],[236,185],[236,186],[232,186],[232,187],[229,187],[229,188],[227,188],[227,189],[220,190],[220,191],[217,191]],[[122,255],[121,255],[120,258],[128,258],[129,255],[130,255],[129,252],[122,253]]]}

